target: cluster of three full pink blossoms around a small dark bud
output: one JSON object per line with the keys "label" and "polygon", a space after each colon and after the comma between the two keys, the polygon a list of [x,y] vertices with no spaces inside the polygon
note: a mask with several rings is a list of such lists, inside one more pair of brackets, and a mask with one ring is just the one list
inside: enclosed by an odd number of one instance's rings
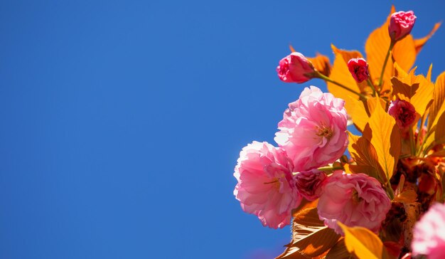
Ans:
{"label": "cluster of three full pink blossoms around a small dark bud", "polygon": [[346,125],[343,100],[314,86],[305,88],[278,124],[279,147],[253,142],[240,152],[234,194],[242,209],[256,215],[264,226],[283,228],[302,199],[320,198],[320,218],[338,233],[336,221],[377,231],[390,209],[378,181],[365,174],[327,176],[317,169],[345,152]]}

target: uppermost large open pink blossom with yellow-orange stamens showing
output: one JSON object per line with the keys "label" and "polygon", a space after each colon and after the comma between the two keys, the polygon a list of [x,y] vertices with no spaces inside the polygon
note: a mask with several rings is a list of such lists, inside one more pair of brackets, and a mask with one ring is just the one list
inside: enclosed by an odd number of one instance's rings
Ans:
{"label": "uppermost large open pink blossom with yellow-orange stamens showing", "polygon": [[289,103],[275,141],[294,162],[294,171],[309,171],[336,161],[348,146],[345,101],[315,86]]}

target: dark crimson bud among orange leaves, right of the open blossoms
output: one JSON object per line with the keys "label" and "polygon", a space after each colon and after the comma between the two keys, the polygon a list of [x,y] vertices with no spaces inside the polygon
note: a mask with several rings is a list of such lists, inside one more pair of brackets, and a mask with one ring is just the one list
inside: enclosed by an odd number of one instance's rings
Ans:
{"label": "dark crimson bud among orange leaves, right of the open blossoms", "polygon": [[410,102],[405,100],[397,99],[392,101],[388,108],[388,113],[395,118],[397,126],[401,129],[409,127],[416,120],[416,109]]}

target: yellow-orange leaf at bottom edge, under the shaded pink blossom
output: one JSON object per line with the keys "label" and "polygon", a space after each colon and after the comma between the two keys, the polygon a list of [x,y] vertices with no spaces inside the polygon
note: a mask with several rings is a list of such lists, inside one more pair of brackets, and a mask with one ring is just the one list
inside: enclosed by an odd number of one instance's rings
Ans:
{"label": "yellow-orange leaf at bottom edge, under the shaded pink blossom", "polygon": [[343,225],[338,222],[345,233],[345,246],[350,253],[354,253],[358,258],[381,259],[390,258],[382,240],[372,233],[368,228],[353,227]]}

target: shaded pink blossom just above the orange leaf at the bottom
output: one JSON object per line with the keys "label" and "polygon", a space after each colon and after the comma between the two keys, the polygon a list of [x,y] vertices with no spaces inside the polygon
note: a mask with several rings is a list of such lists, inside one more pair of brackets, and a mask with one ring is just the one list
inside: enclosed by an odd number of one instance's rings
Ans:
{"label": "shaded pink blossom just above the orange leaf at the bottom", "polygon": [[335,171],[328,177],[318,200],[320,219],[342,235],[337,221],[377,232],[390,208],[391,201],[379,181],[366,174],[342,171]]}

